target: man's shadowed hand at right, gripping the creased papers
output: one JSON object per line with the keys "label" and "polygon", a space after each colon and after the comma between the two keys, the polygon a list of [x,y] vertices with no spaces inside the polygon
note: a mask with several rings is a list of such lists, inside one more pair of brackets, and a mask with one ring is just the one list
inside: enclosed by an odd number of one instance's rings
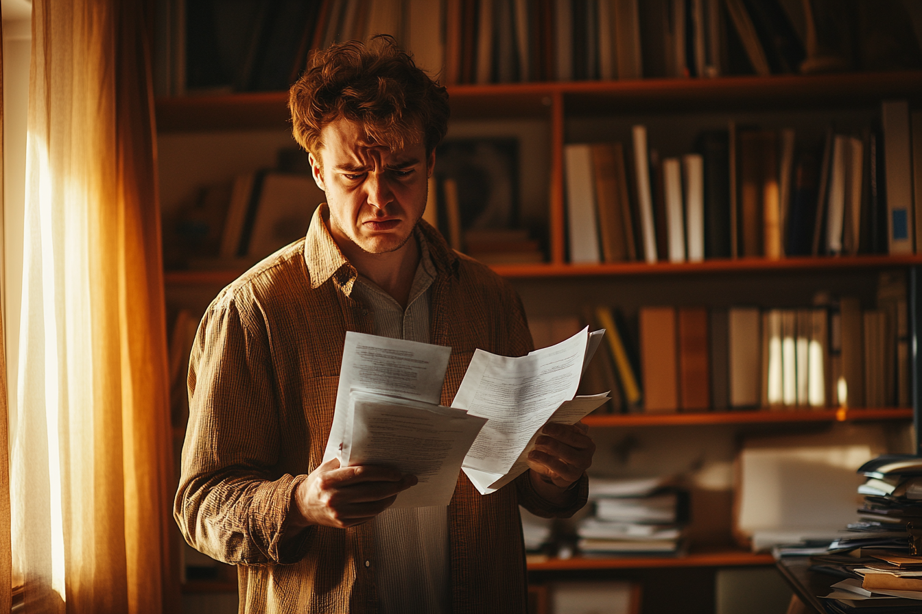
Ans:
{"label": "man's shadowed hand at right, gripping the creased papers", "polygon": [[566,501],[566,490],[592,465],[596,444],[584,423],[545,424],[528,453],[531,482],[552,503]]}

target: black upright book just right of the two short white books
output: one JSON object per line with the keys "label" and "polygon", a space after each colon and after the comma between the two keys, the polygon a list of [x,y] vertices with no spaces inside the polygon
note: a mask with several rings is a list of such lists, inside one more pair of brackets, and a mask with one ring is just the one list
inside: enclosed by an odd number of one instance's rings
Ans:
{"label": "black upright book just right of the two short white books", "polygon": [[726,130],[702,133],[695,149],[704,158],[704,258],[730,257],[730,145]]}

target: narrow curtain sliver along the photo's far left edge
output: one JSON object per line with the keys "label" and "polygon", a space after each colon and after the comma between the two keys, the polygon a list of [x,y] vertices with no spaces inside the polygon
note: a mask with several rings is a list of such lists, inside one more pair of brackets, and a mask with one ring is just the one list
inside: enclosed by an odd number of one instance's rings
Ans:
{"label": "narrow curtain sliver along the photo's far left edge", "polygon": [[[0,21],[0,211],[3,203],[3,25]],[[2,227],[2,226],[0,226]],[[9,411],[6,405],[6,355],[0,320],[0,612],[12,605],[13,567],[9,516]]]}

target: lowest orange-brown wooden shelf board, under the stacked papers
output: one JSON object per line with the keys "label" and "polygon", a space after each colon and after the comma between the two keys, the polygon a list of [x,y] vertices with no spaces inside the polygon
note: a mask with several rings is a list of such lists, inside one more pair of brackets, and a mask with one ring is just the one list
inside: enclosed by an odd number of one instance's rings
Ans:
{"label": "lowest orange-brown wooden shelf board, under the stacked papers", "polygon": [[738,567],[746,565],[772,565],[771,554],[753,554],[746,550],[701,550],[684,556],[646,556],[572,559],[548,559],[528,562],[529,572],[560,572],[591,569],[650,569],[663,567]]}

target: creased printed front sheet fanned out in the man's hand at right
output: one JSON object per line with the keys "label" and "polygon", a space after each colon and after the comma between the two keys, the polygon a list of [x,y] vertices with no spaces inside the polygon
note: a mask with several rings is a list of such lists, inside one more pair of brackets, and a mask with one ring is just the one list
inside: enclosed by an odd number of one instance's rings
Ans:
{"label": "creased printed front sheet fanned out in the man's hand at right", "polygon": [[573,400],[588,329],[557,345],[512,358],[474,353],[452,407],[488,419],[464,466],[505,474],[561,403]]}

